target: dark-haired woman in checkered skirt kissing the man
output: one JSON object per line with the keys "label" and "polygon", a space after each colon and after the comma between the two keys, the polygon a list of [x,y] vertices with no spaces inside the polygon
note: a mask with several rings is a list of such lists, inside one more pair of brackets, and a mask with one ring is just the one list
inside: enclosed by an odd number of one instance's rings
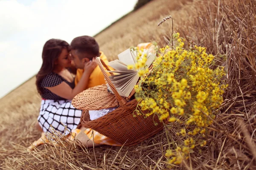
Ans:
{"label": "dark-haired woman in checkered skirt kissing the man", "polygon": [[75,87],[74,77],[67,70],[71,66],[69,47],[66,41],[57,39],[44,44],[43,63],[36,75],[37,90],[42,97],[36,128],[41,132],[67,135],[80,123],[81,111],[71,105],[71,100],[86,88],[97,63],[95,59],[85,63],[82,78]]}

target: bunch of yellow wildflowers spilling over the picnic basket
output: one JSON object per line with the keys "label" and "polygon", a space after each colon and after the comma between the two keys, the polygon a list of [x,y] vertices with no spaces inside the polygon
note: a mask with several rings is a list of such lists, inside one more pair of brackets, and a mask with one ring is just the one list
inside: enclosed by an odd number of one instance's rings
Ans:
{"label": "bunch of yellow wildflowers spilling over the picnic basket", "polygon": [[172,128],[177,125],[172,130],[182,142],[169,146],[166,151],[171,165],[180,164],[195,148],[207,144],[208,127],[215,119],[227,88],[222,80],[224,68],[215,65],[215,57],[207,54],[206,48],[195,45],[185,49],[179,33],[173,38],[176,45],[160,48],[150,71],[143,69],[147,57],[143,49],[134,49],[137,63],[128,66],[135,67],[141,76],[135,85],[135,96],[140,101],[136,113],[140,115],[141,110],[150,110],[145,116],[155,114]]}

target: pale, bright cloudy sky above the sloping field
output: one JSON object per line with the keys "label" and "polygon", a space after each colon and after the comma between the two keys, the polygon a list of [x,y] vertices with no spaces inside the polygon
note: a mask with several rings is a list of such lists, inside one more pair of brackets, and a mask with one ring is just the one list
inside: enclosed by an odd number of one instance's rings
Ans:
{"label": "pale, bright cloudy sky above the sloping field", "polygon": [[93,36],[137,0],[0,0],[0,98],[39,71],[44,43]]}

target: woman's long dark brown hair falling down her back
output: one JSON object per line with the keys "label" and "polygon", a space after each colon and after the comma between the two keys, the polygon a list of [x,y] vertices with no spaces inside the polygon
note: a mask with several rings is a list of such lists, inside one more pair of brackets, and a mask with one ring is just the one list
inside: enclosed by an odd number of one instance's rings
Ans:
{"label": "woman's long dark brown hair falling down her back", "polygon": [[54,69],[54,62],[58,59],[63,48],[67,50],[70,49],[70,45],[64,40],[50,39],[44,44],[42,59],[43,63],[36,75],[35,85],[37,87],[38,93],[42,95],[41,81]]}

